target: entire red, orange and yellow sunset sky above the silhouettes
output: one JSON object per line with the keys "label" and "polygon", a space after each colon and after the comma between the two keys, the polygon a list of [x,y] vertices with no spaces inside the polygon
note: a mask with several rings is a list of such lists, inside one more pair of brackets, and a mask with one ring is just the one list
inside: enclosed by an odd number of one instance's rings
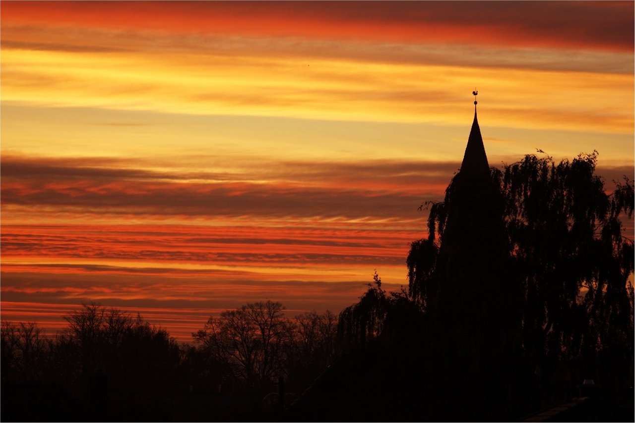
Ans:
{"label": "entire red, orange and yellow sunset sky above the silhouettes", "polygon": [[[634,176],[634,3],[0,4],[0,313],[210,315],[407,285],[474,117],[490,166]],[[632,233],[632,221],[629,222]]]}

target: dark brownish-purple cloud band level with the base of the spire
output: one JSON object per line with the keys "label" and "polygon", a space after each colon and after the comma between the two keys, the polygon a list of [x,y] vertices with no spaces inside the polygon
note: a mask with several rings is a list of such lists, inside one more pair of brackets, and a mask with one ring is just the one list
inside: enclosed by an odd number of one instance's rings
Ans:
{"label": "dark brownish-purple cloud band level with the base of the spire", "polygon": [[283,162],[262,164],[259,172],[180,174],[86,166],[89,162],[86,159],[77,166],[76,160],[3,156],[3,207],[188,216],[399,218],[404,211],[415,210],[425,196],[441,195],[451,169],[458,169],[456,163],[434,162]]}

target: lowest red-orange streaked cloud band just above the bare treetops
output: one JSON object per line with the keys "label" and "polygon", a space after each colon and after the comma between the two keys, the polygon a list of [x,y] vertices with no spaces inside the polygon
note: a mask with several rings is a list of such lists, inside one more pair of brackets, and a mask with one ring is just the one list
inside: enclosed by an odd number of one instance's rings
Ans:
{"label": "lowest red-orange streaked cloud band just above the bare treetops", "polygon": [[[3,320],[36,321],[47,334],[66,326],[63,315],[81,308],[81,303],[96,301],[102,306],[140,313],[145,320],[161,325],[179,341],[191,342],[191,333],[202,329],[210,316],[225,309],[239,308],[254,301],[272,299],[286,306],[286,316],[316,309],[339,313],[367,289],[366,281],[303,282],[249,280],[192,280],[157,275],[140,280],[125,275],[51,275],[2,273]],[[368,280],[370,280],[370,275]],[[384,284],[389,290],[399,285]],[[72,293],[72,296],[69,296]],[[150,296],[152,293],[154,295]],[[183,294],[189,294],[185,299]],[[170,296],[180,296],[170,299]]]}

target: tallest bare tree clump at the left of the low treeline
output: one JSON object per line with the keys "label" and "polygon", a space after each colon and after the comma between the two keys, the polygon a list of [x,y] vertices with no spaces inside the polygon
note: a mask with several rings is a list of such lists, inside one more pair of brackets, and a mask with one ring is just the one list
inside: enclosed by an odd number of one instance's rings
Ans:
{"label": "tallest bare tree clump at the left of the low treeline", "polygon": [[180,349],[160,327],[97,303],[64,316],[69,325],[48,339],[44,380],[63,381],[86,394],[91,375],[104,372],[112,392],[173,391],[179,381]]}

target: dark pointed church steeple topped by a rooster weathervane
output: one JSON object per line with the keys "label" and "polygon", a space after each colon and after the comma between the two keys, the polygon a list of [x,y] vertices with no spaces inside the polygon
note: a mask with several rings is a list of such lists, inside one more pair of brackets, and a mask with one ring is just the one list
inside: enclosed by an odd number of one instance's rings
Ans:
{"label": "dark pointed church steeple topped by a rooster weathervane", "polygon": [[505,322],[500,311],[507,311],[507,291],[504,203],[490,175],[476,101],[474,109],[461,169],[446,190],[447,218],[435,268],[439,285],[428,308],[436,316],[439,336],[448,337],[441,355],[476,365],[493,360],[500,347],[503,337],[493,322]]}

